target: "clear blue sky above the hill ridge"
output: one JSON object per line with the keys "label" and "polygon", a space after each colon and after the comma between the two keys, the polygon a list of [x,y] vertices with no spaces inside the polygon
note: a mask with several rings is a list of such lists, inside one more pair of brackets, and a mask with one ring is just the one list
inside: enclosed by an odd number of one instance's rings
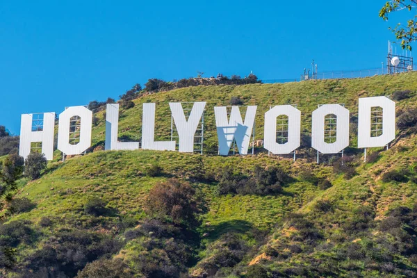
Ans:
{"label": "clear blue sky above the hill ridge", "polygon": [[313,58],[319,72],[380,67],[393,39],[383,4],[0,1],[0,125],[19,133],[22,113],[116,98],[154,77],[294,79]]}

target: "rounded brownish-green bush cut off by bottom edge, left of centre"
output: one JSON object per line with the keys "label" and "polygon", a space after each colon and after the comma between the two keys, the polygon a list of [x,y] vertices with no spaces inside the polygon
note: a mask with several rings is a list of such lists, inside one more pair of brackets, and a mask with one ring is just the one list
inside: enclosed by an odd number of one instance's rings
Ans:
{"label": "rounded brownish-green bush cut off by bottom edge, left of centre", "polygon": [[85,265],[77,278],[130,278],[133,273],[122,259],[98,259]]}

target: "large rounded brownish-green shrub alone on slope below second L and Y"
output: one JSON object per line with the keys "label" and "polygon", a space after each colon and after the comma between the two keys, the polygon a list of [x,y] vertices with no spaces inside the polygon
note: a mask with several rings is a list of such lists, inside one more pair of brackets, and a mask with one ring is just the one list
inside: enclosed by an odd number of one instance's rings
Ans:
{"label": "large rounded brownish-green shrub alone on slope below second L and Y", "polygon": [[200,204],[189,183],[169,179],[149,191],[145,212],[158,220],[168,219],[175,224],[197,224]]}

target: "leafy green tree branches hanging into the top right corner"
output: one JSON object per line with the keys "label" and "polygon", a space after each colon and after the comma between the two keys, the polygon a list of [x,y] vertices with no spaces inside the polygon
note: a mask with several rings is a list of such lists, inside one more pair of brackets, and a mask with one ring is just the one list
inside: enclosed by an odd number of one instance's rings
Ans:
{"label": "leafy green tree branches hanging into the top right corner", "polygon": [[[381,10],[379,10],[379,17],[388,21],[389,13],[400,10],[411,10],[417,8],[417,0],[391,0],[385,3]],[[407,21],[407,25],[401,23],[397,24],[395,28],[391,28],[395,34],[395,38],[401,41],[402,49],[409,49],[411,51],[411,42],[417,40],[417,15]]]}

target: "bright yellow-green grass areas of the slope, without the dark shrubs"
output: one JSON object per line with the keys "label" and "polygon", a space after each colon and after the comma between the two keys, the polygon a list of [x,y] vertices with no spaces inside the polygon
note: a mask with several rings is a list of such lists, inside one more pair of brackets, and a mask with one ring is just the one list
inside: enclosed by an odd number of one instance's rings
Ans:
{"label": "bright yellow-green grass areas of the slope, without the dark shrubs", "polygon": [[[140,138],[142,106],[144,102],[156,102],[157,140],[170,138],[170,101],[207,101],[206,106],[206,150],[217,149],[215,118],[213,106],[229,105],[232,96],[240,96],[245,105],[258,105],[256,116],[256,137],[263,138],[263,113],[269,106],[277,104],[297,104],[302,111],[302,129],[311,130],[311,112],[318,104],[345,104],[351,116],[357,116],[357,99],[377,95],[390,95],[394,90],[417,90],[417,72],[399,76],[375,76],[366,79],[308,81],[302,83],[208,86],[185,88],[142,97],[135,101],[136,106],[122,111],[120,117],[120,136],[133,140]],[[398,108],[416,106],[417,96],[398,102]],[[102,113],[98,126],[93,129],[93,144],[104,140],[104,121]],[[126,131],[127,130],[127,131]],[[336,213],[322,219],[323,227],[327,223],[340,221],[352,215],[352,210],[362,204],[371,204],[377,208],[377,217],[382,217],[390,206],[409,205],[416,200],[416,185],[409,181],[401,184],[386,184],[378,180],[379,175],[390,167],[409,166],[417,163],[417,138],[405,138],[397,145],[406,145],[408,150],[393,147],[382,153],[378,164],[363,164],[357,168],[359,174],[345,181],[332,174],[332,168],[316,165],[313,162],[259,156],[200,156],[179,154],[177,152],[95,152],[81,158],[72,158],[65,163],[51,163],[47,174],[37,181],[28,183],[19,190],[18,197],[28,197],[38,204],[28,213],[14,216],[11,220],[28,219],[38,222],[48,215],[62,220],[54,229],[65,225],[90,227],[93,219],[83,212],[83,204],[93,196],[102,197],[108,206],[115,208],[120,215],[131,215],[139,220],[143,217],[143,199],[149,188],[167,177],[193,179],[202,172],[214,172],[224,165],[234,165],[236,171],[251,170],[254,163],[263,165],[281,165],[291,172],[295,181],[284,188],[286,194],[279,196],[221,196],[214,193],[214,185],[196,183],[196,188],[205,196],[209,211],[204,215],[201,233],[208,232],[205,242],[215,240],[226,231],[234,230],[245,234],[252,228],[271,229],[291,211],[310,211],[318,199],[332,199],[337,203]],[[356,145],[351,136],[350,145]],[[158,164],[165,170],[167,177],[147,177],[145,171],[150,165]],[[311,183],[297,177],[300,168],[311,169],[322,177],[330,177],[334,186],[320,191]],[[106,222],[117,222],[117,217],[106,216]],[[335,220],[337,218],[337,220]],[[104,220],[103,220],[104,222]],[[110,232],[111,225],[102,227]],[[53,231],[44,230],[44,234]],[[275,230],[280,234],[281,230]],[[275,236],[277,237],[277,236]],[[273,240],[272,243],[273,244]],[[24,247],[21,247],[24,248]],[[134,252],[134,244],[126,245],[121,256]],[[31,247],[24,252],[31,252]],[[204,255],[204,252],[202,253]]]}

